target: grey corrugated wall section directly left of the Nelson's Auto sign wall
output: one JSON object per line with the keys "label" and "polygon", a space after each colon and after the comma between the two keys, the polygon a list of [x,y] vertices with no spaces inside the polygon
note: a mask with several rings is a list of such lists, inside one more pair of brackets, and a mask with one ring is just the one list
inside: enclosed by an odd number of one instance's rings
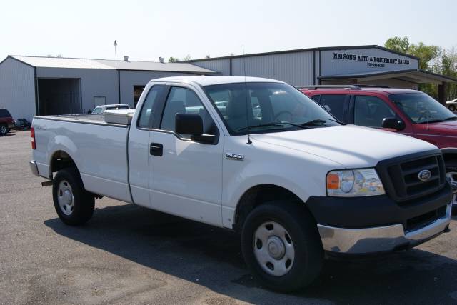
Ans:
{"label": "grey corrugated wall section directly left of the Nelson's Auto sign wall", "polygon": [[232,75],[266,77],[292,85],[313,84],[313,51],[232,59]]}

